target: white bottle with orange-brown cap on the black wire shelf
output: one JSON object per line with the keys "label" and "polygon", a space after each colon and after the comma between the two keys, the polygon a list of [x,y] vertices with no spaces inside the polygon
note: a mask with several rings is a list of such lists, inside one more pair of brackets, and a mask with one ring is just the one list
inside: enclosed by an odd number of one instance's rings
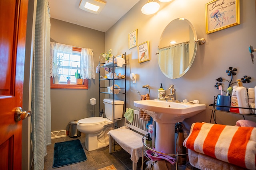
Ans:
{"label": "white bottle with orange-brown cap on the black wire shelf", "polygon": [[[238,102],[238,107],[248,107],[248,95],[247,95],[247,90],[243,86],[241,79],[236,80],[237,81],[237,88],[236,88],[236,97],[237,97],[237,102]],[[250,114],[250,109],[241,109],[239,108],[239,113],[240,114]]]}

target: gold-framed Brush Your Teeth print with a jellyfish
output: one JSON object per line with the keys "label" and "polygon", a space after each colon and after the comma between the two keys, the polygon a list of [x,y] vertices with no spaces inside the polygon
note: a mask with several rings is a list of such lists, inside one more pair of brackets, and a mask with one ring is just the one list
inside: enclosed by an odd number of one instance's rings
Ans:
{"label": "gold-framed Brush Your Teeth print with a jellyfish", "polygon": [[205,5],[206,33],[240,24],[240,0],[213,0]]}

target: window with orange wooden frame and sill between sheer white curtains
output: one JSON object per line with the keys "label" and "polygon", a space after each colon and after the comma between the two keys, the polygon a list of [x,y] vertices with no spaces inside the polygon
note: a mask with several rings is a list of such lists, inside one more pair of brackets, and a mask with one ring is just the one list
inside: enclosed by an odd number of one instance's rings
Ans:
{"label": "window with orange wooden frame and sill between sheer white curtains", "polygon": [[[59,83],[54,83],[54,78],[51,77],[51,88],[59,89],[88,89],[88,79],[84,79],[82,85],[76,84],[75,72],[81,73],[81,48],[72,47],[72,53],[65,53],[63,51],[57,51]],[[67,77],[70,77],[71,83],[67,84]]]}

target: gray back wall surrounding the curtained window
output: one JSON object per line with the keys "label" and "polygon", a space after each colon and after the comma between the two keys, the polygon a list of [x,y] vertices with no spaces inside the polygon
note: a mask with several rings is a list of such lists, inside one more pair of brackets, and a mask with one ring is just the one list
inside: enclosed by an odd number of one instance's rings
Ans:
{"label": "gray back wall surrounding the curtained window", "polygon": [[[54,18],[50,22],[51,41],[92,49],[96,68],[99,55],[105,50],[105,33]],[[99,115],[98,79],[98,74],[95,74],[95,80],[88,80],[88,90],[51,89],[52,131],[68,130],[70,121],[90,117],[90,98],[96,98],[95,114]]]}

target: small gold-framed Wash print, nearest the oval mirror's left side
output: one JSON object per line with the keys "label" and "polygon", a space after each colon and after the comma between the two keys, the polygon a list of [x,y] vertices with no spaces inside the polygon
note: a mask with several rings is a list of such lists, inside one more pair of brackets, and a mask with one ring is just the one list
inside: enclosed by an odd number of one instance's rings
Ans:
{"label": "small gold-framed Wash print, nearest the oval mirror's left side", "polygon": [[149,53],[149,42],[146,41],[138,45],[138,61],[142,63],[144,61],[150,60],[150,53]]}

